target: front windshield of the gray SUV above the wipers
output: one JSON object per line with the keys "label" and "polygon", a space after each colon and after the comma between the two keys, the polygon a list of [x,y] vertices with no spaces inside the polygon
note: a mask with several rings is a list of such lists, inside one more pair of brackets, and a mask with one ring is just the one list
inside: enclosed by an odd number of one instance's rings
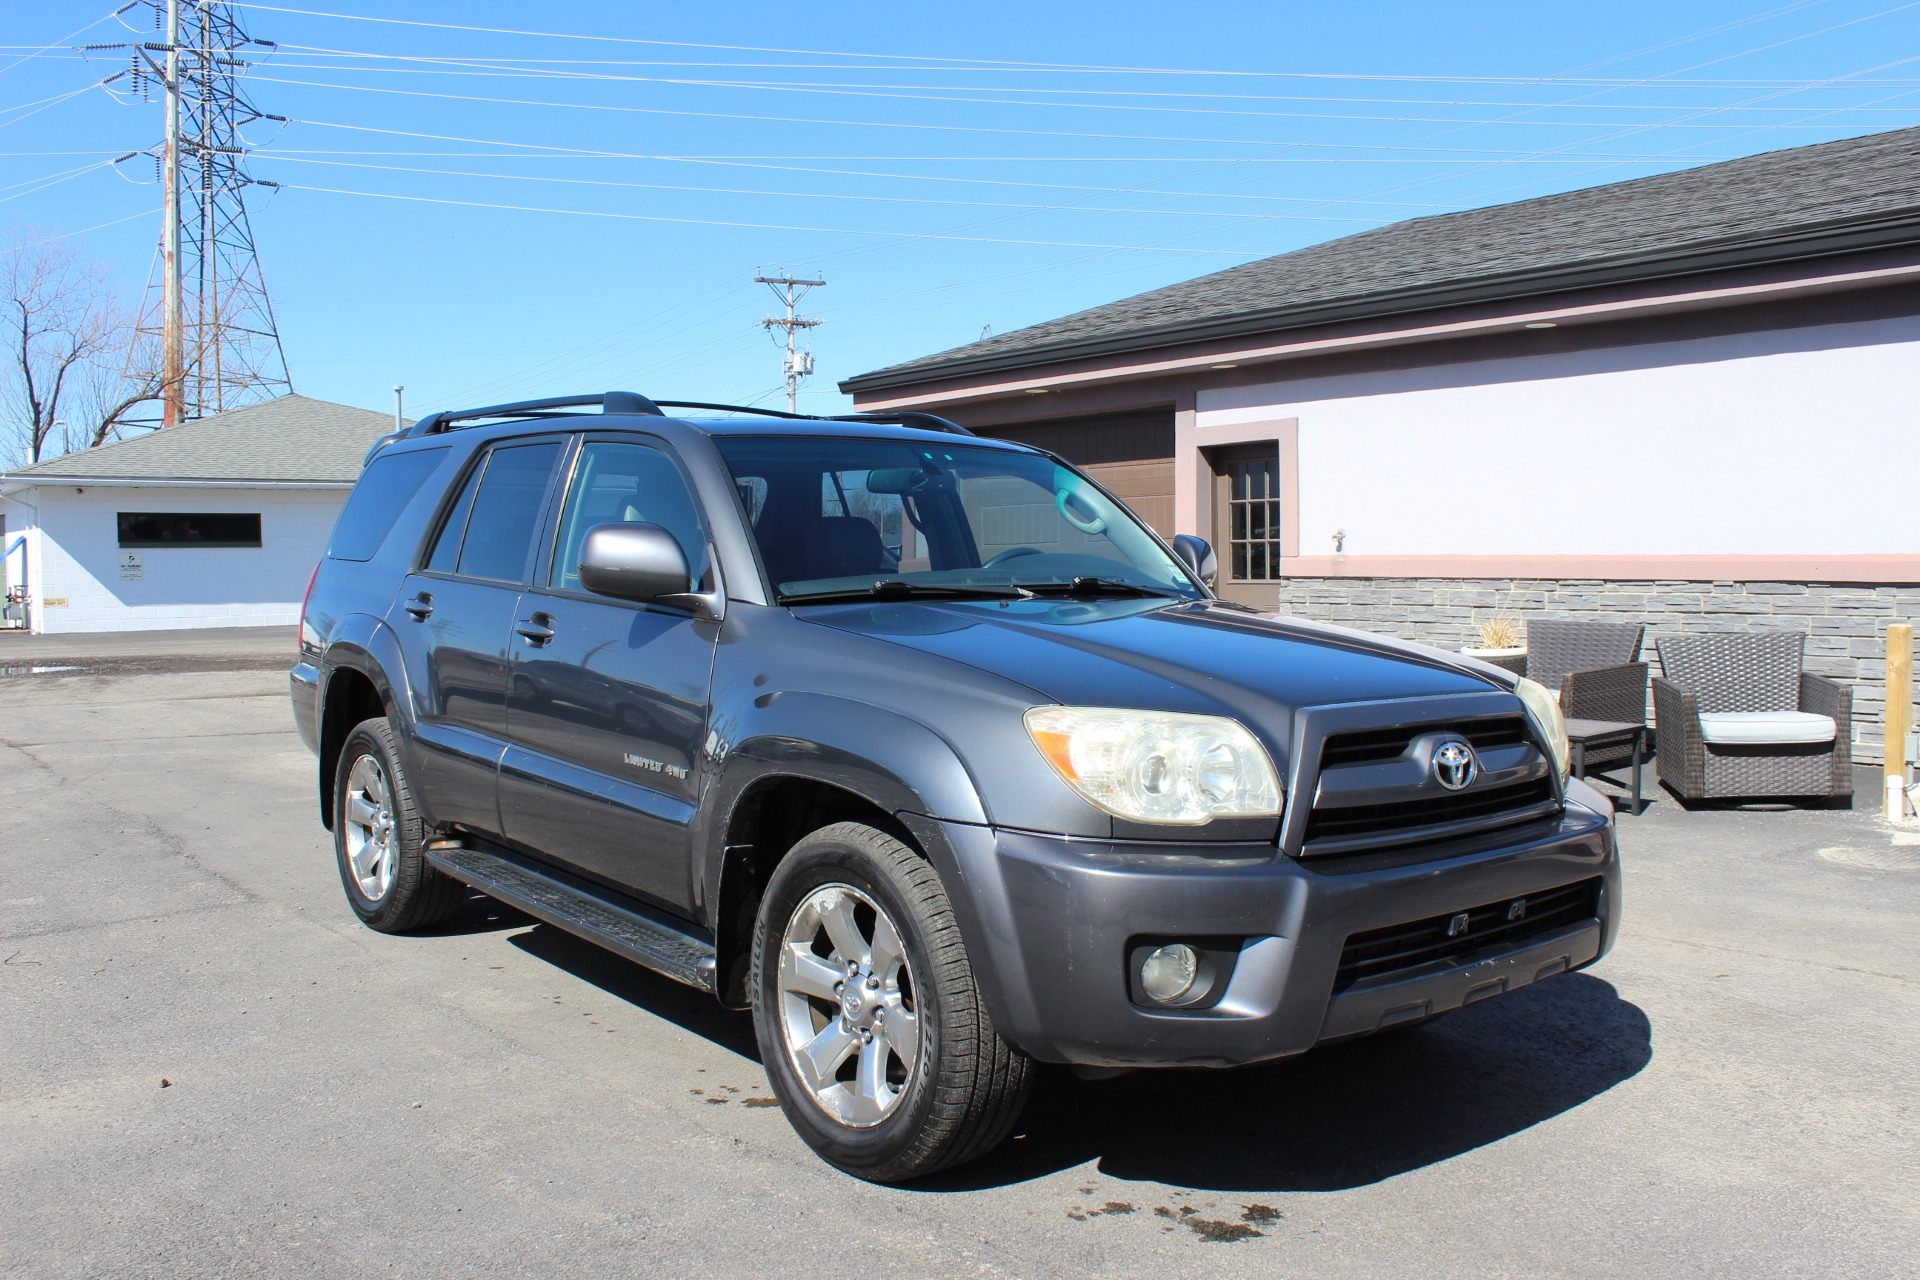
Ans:
{"label": "front windshield of the gray SUV above the wipers", "polygon": [[[902,439],[716,438],[783,601],[968,589],[1202,599],[1125,507],[1071,466]],[[900,585],[906,583],[906,585]]]}

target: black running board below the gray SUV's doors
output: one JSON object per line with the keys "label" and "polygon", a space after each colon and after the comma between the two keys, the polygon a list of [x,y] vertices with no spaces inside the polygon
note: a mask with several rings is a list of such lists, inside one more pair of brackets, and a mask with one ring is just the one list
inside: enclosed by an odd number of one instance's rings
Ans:
{"label": "black running board below the gray SUV's doors", "polygon": [[707,992],[718,990],[712,942],[689,925],[639,904],[612,902],[570,877],[538,871],[480,848],[430,848],[426,860],[490,898],[618,952],[662,977]]}

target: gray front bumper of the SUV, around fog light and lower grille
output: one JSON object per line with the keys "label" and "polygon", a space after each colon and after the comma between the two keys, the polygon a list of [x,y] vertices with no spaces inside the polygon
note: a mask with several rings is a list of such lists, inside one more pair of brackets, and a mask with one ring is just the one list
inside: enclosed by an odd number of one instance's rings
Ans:
{"label": "gray front bumper of the SUV, around fog light and lower grille", "polygon": [[[1586,789],[1578,789],[1586,791]],[[910,819],[950,858],[975,975],[1000,1032],[1043,1061],[1238,1065],[1302,1054],[1475,1004],[1599,960],[1619,927],[1620,864],[1605,802],[1494,831],[1442,856],[1321,864],[1271,846],[1108,842]],[[943,867],[945,871],[947,867]],[[1352,935],[1582,881],[1596,912],[1334,994]],[[1154,1009],[1129,992],[1140,936],[1244,938],[1217,1004]]]}

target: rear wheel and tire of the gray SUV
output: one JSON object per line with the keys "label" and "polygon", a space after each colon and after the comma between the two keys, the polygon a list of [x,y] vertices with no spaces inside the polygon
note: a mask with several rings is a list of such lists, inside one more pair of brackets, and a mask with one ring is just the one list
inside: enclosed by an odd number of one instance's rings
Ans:
{"label": "rear wheel and tire of the gray SUV", "polygon": [[334,770],[334,860],[348,906],[369,929],[430,929],[461,910],[467,887],[426,864],[424,841],[394,727],[363,720]]}

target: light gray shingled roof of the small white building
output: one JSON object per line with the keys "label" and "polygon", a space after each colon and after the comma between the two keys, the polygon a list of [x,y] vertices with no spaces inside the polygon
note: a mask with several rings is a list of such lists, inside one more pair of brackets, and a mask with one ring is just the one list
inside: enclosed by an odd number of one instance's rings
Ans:
{"label": "light gray shingled roof of the small white building", "polygon": [[369,445],[392,430],[392,415],[282,395],[21,466],[4,480],[353,484]]}

